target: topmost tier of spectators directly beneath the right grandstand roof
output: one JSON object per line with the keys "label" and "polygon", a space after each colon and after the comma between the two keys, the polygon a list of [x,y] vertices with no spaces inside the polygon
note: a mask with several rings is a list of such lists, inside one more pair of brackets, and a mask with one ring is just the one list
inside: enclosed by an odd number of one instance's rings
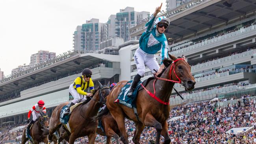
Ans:
{"label": "topmost tier of spectators directly beneath the right grandstand roof", "polygon": [[[170,52],[173,52],[173,51],[176,51],[176,50],[180,50],[182,48],[187,48],[188,46],[192,46],[192,45],[195,45],[195,44],[198,44],[200,42],[203,42],[203,41],[207,41],[209,39],[213,39],[215,37],[220,37],[222,35],[226,35],[228,33],[231,33],[231,32],[234,32],[234,31],[238,31],[240,30],[240,28],[248,28],[249,26],[252,26],[252,25],[255,25],[256,22],[255,20],[251,20],[249,22],[244,22],[241,27],[237,28],[236,26],[233,26],[231,28],[227,28],[225,30],[221,30],[221,31],[218,31],[218,32],[215,32],[215,33],[212,33],[210,35],[206,35],[204,37],[200,37],[198,39],[195,39],[195,40],[192,40],[192,41],[189,41],[187,42],[188,44],[184,45],[184,46],[178,46],[178,48],[172,48],[170,50]],[[176,47],[176,46],[175,46]]]}

